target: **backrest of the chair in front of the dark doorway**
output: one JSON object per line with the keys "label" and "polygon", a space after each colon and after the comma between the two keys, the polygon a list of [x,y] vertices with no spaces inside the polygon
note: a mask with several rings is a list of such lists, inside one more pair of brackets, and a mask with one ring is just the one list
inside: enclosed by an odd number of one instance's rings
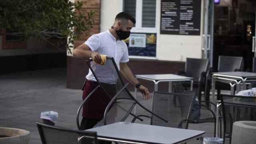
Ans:
{"label": "backrest of the chair in front of the dark doorway", "polygon": [[243,70],[243,57],[219,56],[218,72],[233,72],[234,70]]}

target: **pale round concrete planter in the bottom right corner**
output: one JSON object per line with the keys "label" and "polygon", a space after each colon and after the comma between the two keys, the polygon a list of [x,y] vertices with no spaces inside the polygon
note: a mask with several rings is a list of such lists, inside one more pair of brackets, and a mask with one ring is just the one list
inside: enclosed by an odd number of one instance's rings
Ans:
{"label": "pale round concrete planter in the bottom right corner", "polygon": [[255,144],[256,121],[238,121],[233,123],[231,144]]}

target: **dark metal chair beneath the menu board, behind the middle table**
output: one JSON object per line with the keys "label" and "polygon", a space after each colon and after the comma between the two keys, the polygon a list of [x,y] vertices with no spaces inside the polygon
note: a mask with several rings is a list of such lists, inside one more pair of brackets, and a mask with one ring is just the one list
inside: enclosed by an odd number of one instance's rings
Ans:
{"label": "dark metal chair beneath the menu board, behind the middle table", "polygon": [[[209,67],[208,59],[186,58],[185,70],[178,70],[176,74],[194,78],[193,89],[197,89],[196,96],[201,101],[202,92],[205,89],[206,74]],[[190,83],[182,82],[186,88],[190,87]]]}

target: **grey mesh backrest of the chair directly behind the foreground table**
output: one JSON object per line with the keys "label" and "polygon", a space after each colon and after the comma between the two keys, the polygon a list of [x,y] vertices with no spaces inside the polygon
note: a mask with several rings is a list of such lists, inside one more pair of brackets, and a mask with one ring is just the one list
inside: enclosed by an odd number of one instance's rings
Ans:
{"label": "grey mesh backrest of the chair directly behind the foreground table", "polygon": [[[151,124],[178,128],[181,120],[188,119],[194,102],[194,94],[180,94],[168,92],[153,92],[152,112],[168,120],[163,122],[155,116],[151,116]],[[182,128],[187,128],[185,124]]]}

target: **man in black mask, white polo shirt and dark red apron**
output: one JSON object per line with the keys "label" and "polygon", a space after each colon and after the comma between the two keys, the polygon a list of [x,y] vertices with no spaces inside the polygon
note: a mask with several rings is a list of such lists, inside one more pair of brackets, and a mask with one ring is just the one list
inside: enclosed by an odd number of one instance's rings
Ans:
{"label": "man in black mask, white polo shirt and dark red apron", "polygon": [[[92,35],[84,44],[81,44],[73,50],[73,56],[78,58],[92,58],[92,60],[98,64],[102,62],[100,54],[113,57],[123,76],[131,84],[136,86],[142,93],[143,99],[147,100],[149,98],[148,89],[138,82],[126,64],[129,61],[128,48],[126,43],[122,41],[130,36],[130,30],[135,23],[135,19],[132,16],[125,12],[120,12],[116,15],[114,24],[108,31]],[[95,71],[95,73],[100,74],[102,71],[98,70]],[[109,78],[112,77],[112,75],[109,75],[110,73],[105,72],[99,80],[108,87],[111,95],[114,96],[117,80],[114,78],[109,80]],[[98,85],[90,70],[86,79],[83,99]],[[86,102],[83,107],[81,128],[93,128],[97,122],[103,118],[104,110],[109,102],[110,98],[106,96],[101,88],[98,88],[90,97],[89,102]]]}

